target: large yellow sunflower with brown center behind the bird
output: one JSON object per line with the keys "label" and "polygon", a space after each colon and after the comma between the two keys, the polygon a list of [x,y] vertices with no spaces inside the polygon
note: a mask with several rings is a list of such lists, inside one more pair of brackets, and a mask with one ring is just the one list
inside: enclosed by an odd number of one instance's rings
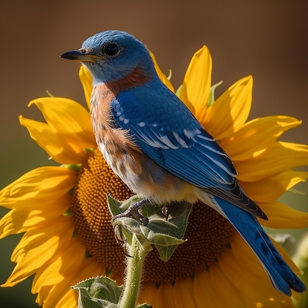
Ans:
{"label": "large yellow sunflower with brown center behind the bird", "polygon": [[[159,77],[174,91],[152,58]],[[192,57],[176,93],[233,160],[242,187],[269,217],[260,222],[271,228],[307,227],[307,213],[276,201],[308,178],[307,172],[293,170],[308,164],[308,146],[277,141],[301,121],[270,116],[247,122],[252,77],[240,79],[214,100],[211,72],[212,58],[204,46]],[[84,66],[79,77],[90,107],[92,80]],[[86,108],[62,97],[42,97],[33,104],[46,123],[22,116],[20,123],[61,165],[31,170],[0,191],[0,205],[10,209],[0,220],[0,237],[24,232],[11,256],[16,267],[2,286],[35,274],[31,292],[37,293],[39,305],[73,308],[77,293],[70,286],[78,281],[107,275],[123,282],[124,256],[114,238],[106,195],[125,200],[132,192],[97,149]],[[288,296],[274,289],[241,236],[210,207],[193,206],[185,238],[168,262],[155,249],[149,253],[140,303],[155,308],[293,307]]]}

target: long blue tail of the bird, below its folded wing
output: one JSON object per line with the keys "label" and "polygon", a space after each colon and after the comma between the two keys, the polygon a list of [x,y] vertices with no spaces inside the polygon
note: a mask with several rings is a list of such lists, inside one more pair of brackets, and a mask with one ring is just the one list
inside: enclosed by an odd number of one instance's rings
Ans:
{"label": "long blue tail of the bird, below its folded wing", "polygon": [[214,196],[225,216],[253,250],[270,277],[274,287],[286,295],[291,290],[302,293],[304,283],[294,274],[252,214]]}

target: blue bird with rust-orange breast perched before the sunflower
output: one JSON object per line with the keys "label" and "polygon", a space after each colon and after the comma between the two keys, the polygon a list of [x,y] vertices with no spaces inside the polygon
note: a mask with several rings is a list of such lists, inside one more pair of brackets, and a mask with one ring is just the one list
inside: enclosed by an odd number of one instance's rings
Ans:
{"label": "blue bird with rust-orange breast perched before the sunflower", "polygon": [[90,70],[98,148],[114,173],[143,197],[124,215],[147,224],[138,212],[145,204],[161,205],[167,213],[172,202],[200,200],[230,221],[277,290],[288,296],[291,289],[306,290],[258,222],[256,217],[268,217],[240,186],[233,162],[160,81],[141,41],[124,31],[103,31],[60,57]]}

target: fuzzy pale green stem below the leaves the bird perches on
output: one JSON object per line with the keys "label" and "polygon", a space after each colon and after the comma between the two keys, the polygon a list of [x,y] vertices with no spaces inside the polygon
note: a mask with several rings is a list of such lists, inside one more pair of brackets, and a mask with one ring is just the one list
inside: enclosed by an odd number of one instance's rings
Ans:
{"label": "fuzzy pale green stem below the leaves the bird perches on", "polygon": [[145,257],[140,257],[142,249],[136,236],[133,234],[129,254],[133,256],[126,259],[125,282],[119,308],[135,308],[137,305],[140,283],[142,278],[142,266]]}

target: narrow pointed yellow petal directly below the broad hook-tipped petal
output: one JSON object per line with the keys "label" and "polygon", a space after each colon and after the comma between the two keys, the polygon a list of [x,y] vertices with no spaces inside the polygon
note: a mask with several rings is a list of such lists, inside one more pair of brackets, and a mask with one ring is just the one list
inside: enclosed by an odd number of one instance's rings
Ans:
{"label": "narrow pointed yellow petal directly below the broad hook-tipped petal", "polygon": [[22,116],[19,121],[28,129],[31,138],[55,161],[61,164],[78,164],[87,160],[85,147],[75,142],[69,143],[65,136],[56,133],[48,124]]}

